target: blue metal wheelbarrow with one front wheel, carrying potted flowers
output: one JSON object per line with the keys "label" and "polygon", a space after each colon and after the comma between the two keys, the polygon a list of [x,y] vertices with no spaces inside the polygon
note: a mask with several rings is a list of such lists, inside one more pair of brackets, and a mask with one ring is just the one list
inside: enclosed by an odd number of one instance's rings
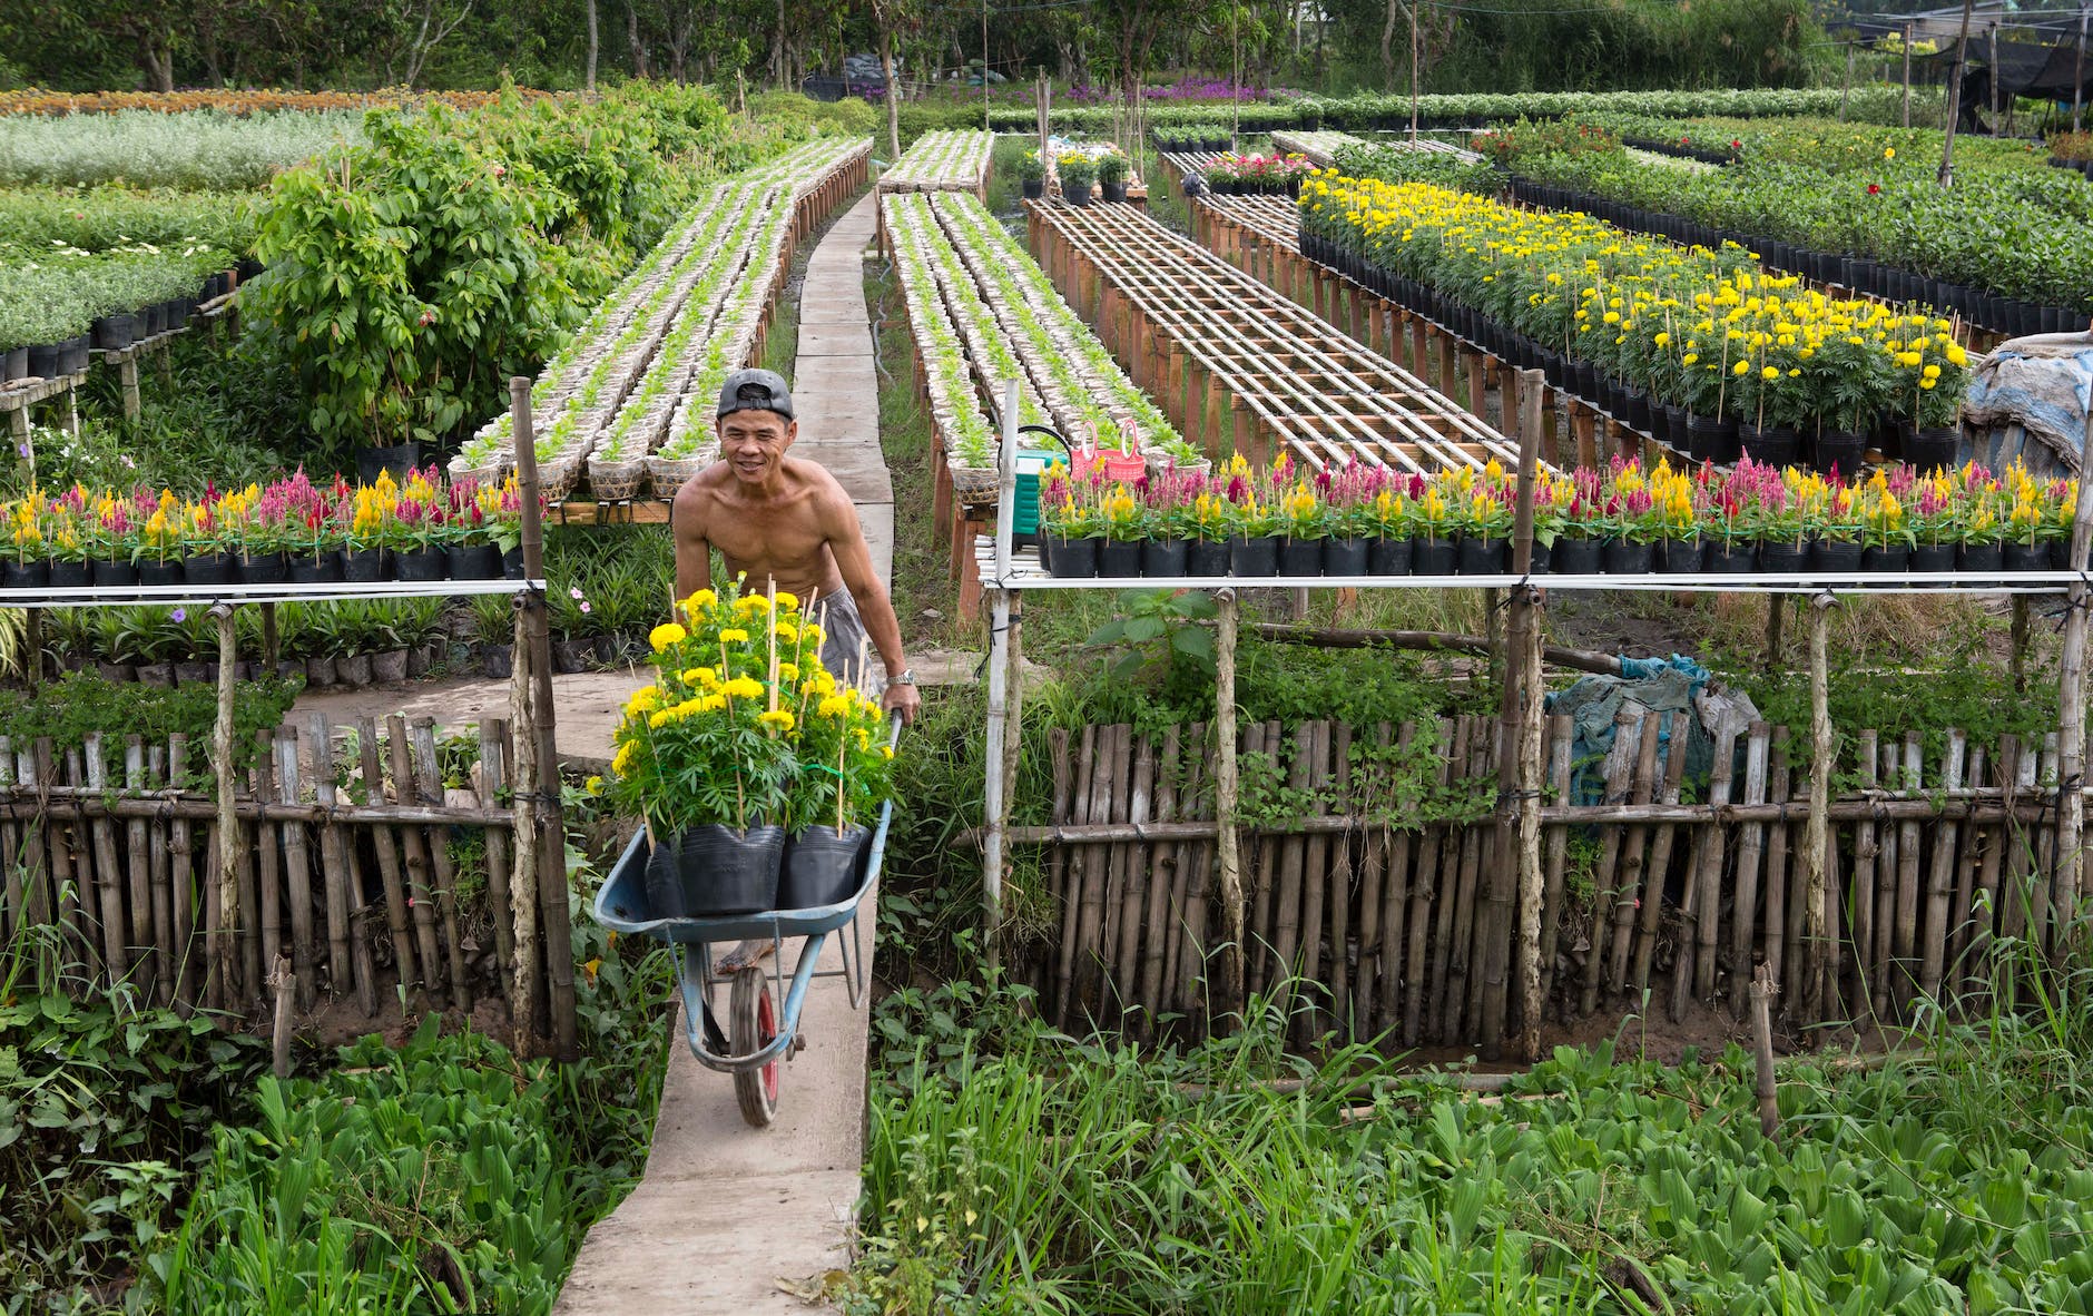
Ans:
{"label": "blue metal wheelbarrow with one front wheel, carrying potted flowers", "polygon": [[[816,977],[841,977],[850,1008],[864,998],[864,941],[858,929],[858,906],[879,881],[879,864],[887,849],[887,824],[894,801],[879,810],[864,862],[864,881],[837,904],[810,910],[770,910],[762,914],[724,914],[710,918],[655,918],[647,902],[647,833],[632,837],[611,877],[597,891],[597,923],[624,935],[659,937],[676,952],[676,983],[682,992],[682,1025],[691,1054],[705,1069],[735,1075],[735,1098],[741,1117],[766,1128],[779,1113],[779,1061],[791,1059],[806,1042],[800,1038],[800,1008]],[[850,929],[839,941],[841,969],[818,971],[820,950],[829,933]],[[783,975],[785,939],[806,937],[791,981]],[[720,941],[770,941],[770,954],[756,962],[714,969],[712,948]],[[726,1023],[714,1011],[716,992],[726,990]]]}

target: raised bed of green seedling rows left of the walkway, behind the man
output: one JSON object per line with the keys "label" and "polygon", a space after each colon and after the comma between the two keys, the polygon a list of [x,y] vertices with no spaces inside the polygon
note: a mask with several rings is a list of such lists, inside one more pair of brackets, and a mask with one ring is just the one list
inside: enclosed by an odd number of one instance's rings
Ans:
{"label": "raised bed of green seedling rows left of the walkway, behind the man", "polygon": [[[584,473],[599,502],[630,500],[645,479],[668,498],[703,464],[712,393],[760,349],[793,245],[856,186],[869,157],[869,140],[816,138],[714,186],[617,285],[532,385],[550,498],[565,498]],[[450,469],[488,477],[513,460],[504,412]]]}

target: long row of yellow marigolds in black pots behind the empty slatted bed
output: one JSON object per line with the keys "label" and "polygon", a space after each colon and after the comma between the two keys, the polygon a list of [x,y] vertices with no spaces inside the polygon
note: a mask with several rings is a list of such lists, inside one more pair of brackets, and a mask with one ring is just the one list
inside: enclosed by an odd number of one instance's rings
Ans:
{"label": "long row of yellow marigolds in black pots behind the empty slatted bed", "polygon": [[1970,358],[1917,308],[1827,297],[1735,245],[1423,182],[1321,172],[1300,215],[1314,259],[1695,458],[1790,462],[1808,439],[1852,469],[1886,425],[1907,431],[1907,458],[1953,458]]}

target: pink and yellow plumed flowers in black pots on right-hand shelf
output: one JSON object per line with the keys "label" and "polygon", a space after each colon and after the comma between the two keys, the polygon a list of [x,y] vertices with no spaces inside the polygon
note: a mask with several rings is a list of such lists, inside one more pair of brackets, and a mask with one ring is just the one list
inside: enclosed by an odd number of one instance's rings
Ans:
{"label": "pink and yellow plumed flowers in black pots on right-hand shelf", "polygon": [[[1674,469],[1616,458],[1534,477],[1534,571],[2047,571],[2064,569],[2076,481],[1974,462],[1819,475],[1741,460]],[[1040,485],[1057,577],[1457,575],[1511,569],[1517,479],[1388,467],[1113,479],[1099,460]]]}

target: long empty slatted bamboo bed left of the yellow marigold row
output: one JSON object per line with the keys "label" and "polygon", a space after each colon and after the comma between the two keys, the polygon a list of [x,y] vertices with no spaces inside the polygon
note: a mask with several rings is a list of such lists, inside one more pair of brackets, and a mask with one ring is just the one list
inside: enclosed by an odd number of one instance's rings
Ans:
{"label": "long empty slatted bamboo bed left of the yellow marigold row", "polygon": [[1055,282],[1197,448],[1419,473],[1517,464],[1480,418],[1160,222],[1124,205],[1028,211]]}

